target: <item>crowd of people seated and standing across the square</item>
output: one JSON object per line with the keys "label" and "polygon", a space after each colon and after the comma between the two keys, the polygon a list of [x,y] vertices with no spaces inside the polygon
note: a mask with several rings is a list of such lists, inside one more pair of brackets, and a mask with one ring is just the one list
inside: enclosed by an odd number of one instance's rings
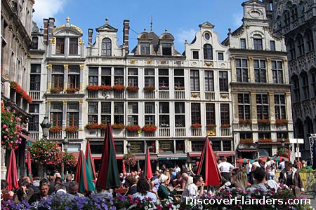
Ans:
{"label": "crowd of people seated and standing across the square", "polygon": [[[197,172],[199,162],[191,169],[183,167],[166,168],[162,165],[161,169],[156,170],[151,179],[142,177],[140,171],[131,173],[121,173],[119,178],[121,181],[120,189],[125,189],[126,197],[132,199],[138,197],[140,200],[150,199],[152,202],[156,200],[164,200],[173,197],[175,200],[185,201],[186,197],[202,197],[204,193],[209,193],[210,188],[204,187],[203,176]],[[258,162],[246,163],[242,167],[234,167],[226,158],[218,161],[218,170],[221,174],[220,186],[212,186],[211,190],[221,190],[229,188],[239,188],[241,190],[278,190],[279,185],[287,185],[293,189],[296,196],[303,191],[303,182],[301,176],[296,169],[298,165],[294,165],[289,161],[279,163],[268,158],[266,162],[259,160]],[[279,169],[279,178],[275,178],[275,171]],[[1,193],[4,198],[2,202],[14,200],[22,202],[26,200],[29,204],[43,200],[44,197],[50,195],[67,195],[67,199],[73,200],[74,197],[112,197],[115,196],[115,190],[102,189],[96,186],[96,192],[78,192],[79,183],[73,180],[71,174],[65,176],[65,180],[61,179],[59,173],[49,176],[47,179],[34,177],[21,177],[19,179],[19,188],[8,191],[8,182],[1,180]]]}

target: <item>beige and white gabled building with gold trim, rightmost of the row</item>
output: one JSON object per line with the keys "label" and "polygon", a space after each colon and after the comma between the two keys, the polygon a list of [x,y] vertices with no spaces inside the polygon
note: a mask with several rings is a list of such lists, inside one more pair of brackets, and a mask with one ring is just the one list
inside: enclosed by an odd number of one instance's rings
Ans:
{"label": "beige and white gabled building with gold trim, rightmost of the row", "polygon": [[282,138],[293,138],[291,94],[284,40],[270,30],[265,5],[242,6],[243,25],[223,43],[230,48],[237,155],[254,159],[275,155]]}

